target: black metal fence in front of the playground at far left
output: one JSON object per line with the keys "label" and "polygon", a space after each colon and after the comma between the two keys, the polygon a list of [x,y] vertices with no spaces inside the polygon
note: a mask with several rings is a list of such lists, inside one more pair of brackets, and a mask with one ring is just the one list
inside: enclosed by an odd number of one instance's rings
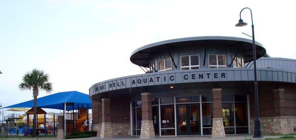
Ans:
{"label": "black metal fence in front of the playground at far left", "polygon": [[[33,122],[23,119],[6,120],[0,122],[0,138],[10,137],[32,137]],[[56,136],[57,134],[57,119],[46,118],[37,119],[37,132],[38,137]]]}

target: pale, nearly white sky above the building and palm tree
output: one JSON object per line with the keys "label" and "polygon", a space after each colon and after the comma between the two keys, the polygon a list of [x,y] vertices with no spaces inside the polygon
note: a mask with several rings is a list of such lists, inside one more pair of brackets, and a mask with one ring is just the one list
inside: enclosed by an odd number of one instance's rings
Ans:
{"label": "pale, nearly white sky above the building and palm tree", "polygon": [[296,59],[293,0],[0,0],[0,103],[33,99],[20,91],[34,68],[53,91],[88,94],[92,84],[143,74],[131,53],[150,43],[192,36],[252,39],[249,23],[235,27],[242,8],[253,12],[255,39],[271,57]]}

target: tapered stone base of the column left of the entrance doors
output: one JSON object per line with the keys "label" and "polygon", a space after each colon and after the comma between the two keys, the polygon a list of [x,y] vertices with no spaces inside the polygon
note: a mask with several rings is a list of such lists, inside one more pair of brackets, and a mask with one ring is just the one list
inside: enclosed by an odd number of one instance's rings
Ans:
{"label": "tapered stone base of the column left of the entrance doors", "polygon": [[142,120],[141,126],[141,139],[153,139],[155,138],[155,132],[152,120]]}

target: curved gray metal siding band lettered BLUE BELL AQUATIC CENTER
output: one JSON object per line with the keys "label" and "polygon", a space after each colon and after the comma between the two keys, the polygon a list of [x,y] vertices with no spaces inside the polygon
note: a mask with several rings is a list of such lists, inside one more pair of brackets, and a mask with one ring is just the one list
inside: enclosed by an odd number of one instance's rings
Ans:
{"label": "curved gray metal siding band lettered BLUE BELL AQUATIC CENTER", "polygon": [[[258,81],[296,83],[296,72],[259,68],[257,78]],[[133,75],[94,84],[90,88],[90,96],[141,86],[223,81],[254,81],[254,70],[253,68],[197,69]]]}

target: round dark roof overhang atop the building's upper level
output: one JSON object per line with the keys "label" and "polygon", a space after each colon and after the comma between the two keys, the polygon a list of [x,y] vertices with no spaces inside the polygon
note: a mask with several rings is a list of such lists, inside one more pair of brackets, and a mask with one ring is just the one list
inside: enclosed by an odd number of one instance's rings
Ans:
{"label": "round dark roof overhang atop the building's upper level", "polygon": [[[199,45],[200,47],[212,47],[213,45],[225,46],[225,47],[238,47],[241,49],[244,55],[245,62],[253,61],[253,41],[246,38],[228,37],[228,36],[199,36],[199,37],[186,37],[160,41],[143,46],[135,50],[130,60],[132,63],[149,67],[150,57],[164,49],[171,49],[174,47],[183,47],[186,45]],[[256,58],[260,58],[266,54],[266,50],[259,42],[256,44]]]}

